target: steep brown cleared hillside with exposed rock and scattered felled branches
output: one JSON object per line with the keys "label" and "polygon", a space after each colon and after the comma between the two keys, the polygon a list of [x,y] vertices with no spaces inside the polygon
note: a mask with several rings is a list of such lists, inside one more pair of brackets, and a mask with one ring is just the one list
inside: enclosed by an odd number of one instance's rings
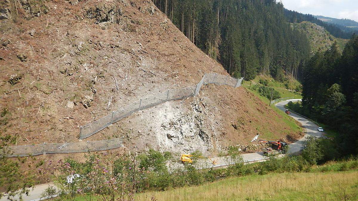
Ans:
{"label": "steep brown cleared hillside with exposed rock and scattered felled branches", "polygon": [[[150,1],[1,6],[1,135],[18,136],[17,145],[77,142],[80,126],[135,100],[195,85],[204,73],[226,74]],[[196,98],[140,111],[86,140],[218,151],[256,133],[297,134],[282,118],[243,88],[209,85]]]}

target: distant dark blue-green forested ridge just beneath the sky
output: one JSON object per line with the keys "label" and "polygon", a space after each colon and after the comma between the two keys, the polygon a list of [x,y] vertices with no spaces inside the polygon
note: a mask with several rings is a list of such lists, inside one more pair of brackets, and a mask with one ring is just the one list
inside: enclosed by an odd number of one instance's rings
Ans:
{"label": "distant dark blue-green forested ridge just beneath the sky", "polygon": [[329,31],[330,34],[332,34],[336,38],[349,39],[352,36],[352,34],[354,33],[358,34],[358,30],[352,30],[348,27],[338,24],[326,23],[322,20],[315,18],[315,16],[310,14],[302,14],[296,11],[285,9],[285,16],[289,19],[291,23],[301,23],[303,21],[310,21],[311,23],[315,23],[319,26],[323,26],[327,31]]}

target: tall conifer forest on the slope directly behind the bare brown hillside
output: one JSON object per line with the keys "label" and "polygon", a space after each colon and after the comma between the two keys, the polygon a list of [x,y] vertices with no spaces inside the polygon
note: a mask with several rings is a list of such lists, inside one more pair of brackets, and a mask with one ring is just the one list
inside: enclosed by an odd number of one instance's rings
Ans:
{"label": "tall conifer forest on the slope directly behind the bare brown hillside", "polygon": [[154,4],[227,72],[299,78],[310,57],[306,35],[293,29],[275,0],[154,0]]}

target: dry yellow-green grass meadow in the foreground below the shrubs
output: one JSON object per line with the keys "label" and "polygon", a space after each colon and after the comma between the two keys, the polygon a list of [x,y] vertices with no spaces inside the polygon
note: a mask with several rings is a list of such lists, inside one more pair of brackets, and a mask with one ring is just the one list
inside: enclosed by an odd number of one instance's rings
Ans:
{"label": "dry yellow-green grass meadow in the foreground below the shrubs", "polygon": [[358,171],[274,173],[137,194],[135,200],[358,200]]}

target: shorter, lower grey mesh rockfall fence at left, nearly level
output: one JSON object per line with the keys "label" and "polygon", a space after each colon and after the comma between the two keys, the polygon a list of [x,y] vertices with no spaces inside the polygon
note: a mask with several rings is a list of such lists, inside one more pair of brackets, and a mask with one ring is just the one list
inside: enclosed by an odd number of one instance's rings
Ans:
{"label": "shorter, lower grey mesh rockfall fence at left, nearly level", "polygon": [[35,156],[47,153],[80,153],[89,151],[104,151],[107,149],[114,149],[122,147],[122,139],[106,139],[100,141],[83,141],[71,143],[44,143],[32,144],[23,146],[6,147],[8,157],[16,156]]}

